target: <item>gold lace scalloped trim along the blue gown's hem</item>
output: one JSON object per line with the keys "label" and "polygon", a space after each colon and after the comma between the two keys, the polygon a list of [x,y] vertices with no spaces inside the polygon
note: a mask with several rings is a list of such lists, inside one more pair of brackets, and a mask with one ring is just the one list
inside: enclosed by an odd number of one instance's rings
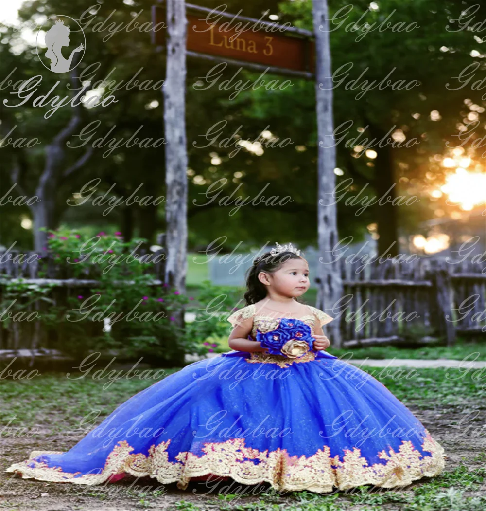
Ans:
{"label": "gold lace scalloped trim along the blue gown's hem", "polygon": [[[162,484],[177,482],[185,490],[191,477],[209,474],[231,477],[240,484],[261,484],[269,482],[279,491],[308,490],[329,493],[333,487],[347,490],[363,484],[384,488],[406,486],[422,477],[440,474],[445,466],[442,446],[426,431],[422,450],[430,452],[423,456],[414,449],[410,440],[402,440],[395,452],[392,448],[378,453],[386,463],[369,466],[358,448],[344,450],[343,461],[339,456],[330,457],[330,449],[324,446],[309,457],[289,456],[285,449],[269,452],[258,451],[245,446],[244,438],[226,440],[222,443],[207,443],[201,457],[191,452],[181,452],[176,460],[168,460],[167,447],[171,440],[152,445],[148,456],[130,454],[133,451],[126,440],[120,440],[108,456],[99,474],[62,472],[60,467],[49,468],[45,463],[31,459],[14,463],[6,472],[21,474],[23,479],[35,478],[41,481],[71,482],[94,485],[105,482],[111,476],[131,474],[136,477],[150,476]],[[256,463],[255,463],[256,462]],[[28,464],[34,463],[35,467]],[[76,477],[78,476],[78,477]]]}

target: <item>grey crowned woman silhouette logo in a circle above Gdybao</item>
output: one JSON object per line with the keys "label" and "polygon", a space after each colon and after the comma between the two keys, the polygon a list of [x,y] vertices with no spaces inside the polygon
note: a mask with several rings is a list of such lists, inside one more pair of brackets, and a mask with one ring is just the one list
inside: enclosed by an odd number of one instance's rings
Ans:
{"label": "grey crowned woman silhouette logo in a circle above Gdybao", "polygon": [[[53,16],[54,18],[59,18],[60,16]],[[69,16],[62,16],[68,18]],[[52,18],[50,18],[52,19]],[[72,18],[69,18],[72,19]],[[49,20],[47,20],[49,21]],[[46,22],[47,22],[46,21]],[[75,19],[72,19],[75,23],[77,21]],[[42,30],[42,27],[39,29],[39,32]],[[80,27],[80,31],[83,34],[84,38],[84,32],[83,29]],[[39,37],[39,32],[37,33],[37,37]],[[69,26],[64,25],[64,21],[61,19],[56,19],[55,24],[46,32],[45,34],[45,45],[47,47],[44,56],[49,59],[50,61],[50,68],[51,71],[54,73],[66,73],[67,71],[70,71],[72,68],[76,67],[79,62],[81,62],[81,59],[79,59],[78,63],[76,65],[73,65],[71,67],[71,62],[74,57],[74,55],[78,52],[83,52],[84,55],[84,49],[86,46],[86,39],[84,41],[84,44],[81,43],[77,48],[71,51],[71,54],[66,59],[64,58],[62,54],[62,47],[63,46],[69,46],[70,39],[69,35],[71,33],[71,29]],[[37,42],[36,42],[37,47]],[[37,47],[37,55],[39,56],[39,59],[42,61],[39,55],[39,48]],[[47,65],[42,62],[46,67]]]}

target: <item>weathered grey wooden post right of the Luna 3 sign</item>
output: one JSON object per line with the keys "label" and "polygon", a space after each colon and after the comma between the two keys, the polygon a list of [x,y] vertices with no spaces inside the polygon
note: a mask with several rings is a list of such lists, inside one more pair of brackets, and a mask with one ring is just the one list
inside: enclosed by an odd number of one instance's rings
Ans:
{"label": "weathered grey wooden post right of the Luna 3 sign", "polygon": [[[332,307],[343,294],[343,282],[339,260],[331,250],[337,243],[337,206],[333,198],[335,188],[336,148],[332,136],[332,72],[329,43],[329,21],[327,1],[312,0],[315,35],[315,108],[318,126],[318,244],[319,260],[317,276],[319,281],[316,306],[330,316]],[[334,262],[332,262],[334,260]],[[325,328],[332,345],[341,347],[339,320],[332,321]]]}

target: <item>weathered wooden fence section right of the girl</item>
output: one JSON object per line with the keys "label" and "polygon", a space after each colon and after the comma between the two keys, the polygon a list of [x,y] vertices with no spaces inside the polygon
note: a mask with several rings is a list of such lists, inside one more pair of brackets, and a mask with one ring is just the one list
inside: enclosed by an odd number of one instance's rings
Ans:
{"label": "weathered wooden fence section right of the girl", "polygon": [[438,338],[450,346],[457,334],[486,335],[484,263],[356,262],[342,264],[342,278],[346,307],[337,312],[345,347]]}

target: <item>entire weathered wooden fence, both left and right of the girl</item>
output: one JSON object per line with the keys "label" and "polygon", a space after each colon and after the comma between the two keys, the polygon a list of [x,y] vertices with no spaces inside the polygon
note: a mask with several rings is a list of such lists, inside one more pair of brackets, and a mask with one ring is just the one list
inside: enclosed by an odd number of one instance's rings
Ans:
{"label": "entire weathered wooden fence, both left and right of the girl", "polygon": [[[143,255],[147,251],[138,253]],[[161,253],[163,250],[154,256]],[[12,252],[12,258],[14,255]],[[154,286],[163,284],[165,257],[160,259],[145,265],[145,270],[153,276]],[[421,344],[437,339],[452,345],[457,334],[486,334],[485,263],[422,258],[363,265],[342,260],[341,268],[343,299],[333,311],[326,311],[339,321],[344,347]],[[38,277],[41,269],[46,273],[45,278]],[[60,305],[66,304],[69,296],[88,295],[98,284],[89,273],[80,279],[73,278],[69,271],[69,266],[49,257],[32,263],[14,263],[9,259],[0,263],[0,298],[7,280],[12,282],[19,277],[32,284],[53,283],[51,298]],[[48,305],[40,302],[32,306],[32,310],[46,308]],[[0,350],[36,349],[45,337],[39,321],[13,321],[8,330],[0,324],[0,333]]]}

